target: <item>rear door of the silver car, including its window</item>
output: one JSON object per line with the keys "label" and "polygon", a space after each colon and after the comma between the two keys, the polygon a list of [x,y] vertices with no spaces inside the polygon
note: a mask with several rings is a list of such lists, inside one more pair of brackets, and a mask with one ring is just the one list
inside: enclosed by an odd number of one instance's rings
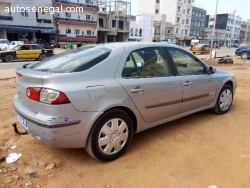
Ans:
{"label": "rear door of the silver car, including its window", "polygon": [[142,48],[123,54],[122,72],[116,80],[130,96],[146,122],[154,122],[180,112],[182,88],[172,76],[159,47]]}

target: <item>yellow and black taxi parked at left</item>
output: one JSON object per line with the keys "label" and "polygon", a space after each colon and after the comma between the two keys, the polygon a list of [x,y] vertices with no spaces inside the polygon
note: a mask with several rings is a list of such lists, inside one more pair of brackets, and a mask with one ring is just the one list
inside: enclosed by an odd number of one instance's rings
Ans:
{"label": "yellow and black taxi parked at left", "polygon": [[37,44],[25,44],[17,45],[12,50],[0,52],[0,59],[4,62],[12,62],[14,59],[44,60],[53,55],[52,49],[44,49]]}

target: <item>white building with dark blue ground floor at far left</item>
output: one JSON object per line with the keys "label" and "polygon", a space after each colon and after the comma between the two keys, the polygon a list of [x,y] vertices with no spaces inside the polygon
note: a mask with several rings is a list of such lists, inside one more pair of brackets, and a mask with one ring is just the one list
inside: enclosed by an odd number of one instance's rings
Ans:
{"label": "white building with dark blue ground floor at far left", "polygon": [[0,38],[9,40],[31,40],[34,38],[54,41],[53,16],[39,11],[52,7],[51,0],[39,3],[35,0],[1,0]]}

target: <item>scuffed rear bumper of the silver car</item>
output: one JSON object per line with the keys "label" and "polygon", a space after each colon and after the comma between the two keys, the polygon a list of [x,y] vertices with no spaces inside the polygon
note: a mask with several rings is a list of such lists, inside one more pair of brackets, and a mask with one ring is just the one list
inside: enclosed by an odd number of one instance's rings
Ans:
{"label": "scuffed rear bumper of the silver car", "polygon": [[[39,141],[57,148],[83,148],[98,112],[76,111],[71,104],[65,105],[65,114],[46,115],[26,108],[17,96],[13,99],[17,119],[23,118],[27,127],[20,125]],[[61,107],[62,108],[62,107]],[[66,109],[66,110],[65,110]],[[19,117],[19,118],[18,118]]]}

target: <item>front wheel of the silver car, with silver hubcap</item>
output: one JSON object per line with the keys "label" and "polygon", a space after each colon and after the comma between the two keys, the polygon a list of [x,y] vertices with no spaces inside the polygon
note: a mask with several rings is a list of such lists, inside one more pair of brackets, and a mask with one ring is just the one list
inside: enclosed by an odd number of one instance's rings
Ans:
{"label": "front wheel of the silver car, with silver hubcap", "polygon": [[220,91],[215,107],[212,108],[212,111],[216,114],[225,114],[230,109],[232,103],[233,89],[230,85],[225,84]]}

